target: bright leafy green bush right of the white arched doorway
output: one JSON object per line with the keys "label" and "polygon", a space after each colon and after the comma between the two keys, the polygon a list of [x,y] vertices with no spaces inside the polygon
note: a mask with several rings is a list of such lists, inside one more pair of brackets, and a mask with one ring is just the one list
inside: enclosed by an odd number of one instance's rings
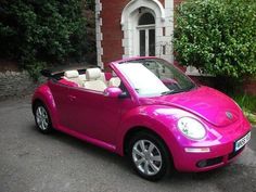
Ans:
{"label": "bright leafy green bush right of the white arched doorway", "polygon": [[176,60],[216,76],[255,76],[255,0],[184,1],[176,13]]}

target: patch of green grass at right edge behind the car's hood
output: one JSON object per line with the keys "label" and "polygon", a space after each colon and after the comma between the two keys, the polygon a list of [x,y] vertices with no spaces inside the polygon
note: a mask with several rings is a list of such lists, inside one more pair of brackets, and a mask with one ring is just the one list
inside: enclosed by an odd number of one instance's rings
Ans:
{"label": "patch of green grass at right edge behind the car's hood", "polygon": [[231,97],[241,106],[251,124],[256,126],[256,95],[235,94]]}

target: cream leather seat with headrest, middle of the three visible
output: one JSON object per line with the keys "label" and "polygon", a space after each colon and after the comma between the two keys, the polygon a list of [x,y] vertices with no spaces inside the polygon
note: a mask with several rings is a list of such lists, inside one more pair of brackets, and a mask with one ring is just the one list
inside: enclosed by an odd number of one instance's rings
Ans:
{"label": "cream leather seat with headrest, middle of the three visible", "polygon": [[86,89],[103,92],[106,88],[106,85],[103,82],[103,80],[100,80],[100,77],[101,77],[100,68],[88,68],[86,71],[87,81],[85,82],[84,87]]}

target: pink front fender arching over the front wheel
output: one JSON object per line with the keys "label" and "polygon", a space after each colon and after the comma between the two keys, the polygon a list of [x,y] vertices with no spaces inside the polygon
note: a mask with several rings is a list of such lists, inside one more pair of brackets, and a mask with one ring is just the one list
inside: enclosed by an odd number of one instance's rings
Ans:
{"label": "pink front fender arching over the front wheel", "polygon": [[161,137],[172,154],[172,150],[178,148],[176,138],[171,131],[174,129],[176,130],[175,118],[172,119],[171,116],[167,118],[163,114],[159,114],[157,110],[161,107],[163,106],[138,106],[123,116],[121,124],[118,128],[116,145],[116,151],[119,155],[124,155],[124,141],[127,132],[139,127],[146,128]]}

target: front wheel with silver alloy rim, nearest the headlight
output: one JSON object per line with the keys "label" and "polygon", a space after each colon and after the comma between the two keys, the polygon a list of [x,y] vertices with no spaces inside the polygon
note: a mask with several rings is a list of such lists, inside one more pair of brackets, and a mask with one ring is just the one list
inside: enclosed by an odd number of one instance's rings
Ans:
{"label": "front wheel with silver alloy rim, nearest the headlight", "polygon": [[171,167],[169,151],[164,141],[154,133],[142,131],[131,138],[128,156],[136,172],[150,181],[157,181]]}

